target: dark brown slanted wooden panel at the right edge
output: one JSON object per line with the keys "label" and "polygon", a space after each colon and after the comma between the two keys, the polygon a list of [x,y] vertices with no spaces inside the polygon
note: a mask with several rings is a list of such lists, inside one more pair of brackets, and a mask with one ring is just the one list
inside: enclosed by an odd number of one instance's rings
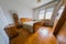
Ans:
{"label": "dark brown slanted wooden panel at the right edge", "polygon": [[63,26],[64,22],[66,21],[66,6],[65,6],[65,9],[62,13],[62,16],[61,19],[58,20],[57,24],[56,24],[56,28],[54,30],[54,35],[56,36],[57,33],[59,32],[61,28]]}

